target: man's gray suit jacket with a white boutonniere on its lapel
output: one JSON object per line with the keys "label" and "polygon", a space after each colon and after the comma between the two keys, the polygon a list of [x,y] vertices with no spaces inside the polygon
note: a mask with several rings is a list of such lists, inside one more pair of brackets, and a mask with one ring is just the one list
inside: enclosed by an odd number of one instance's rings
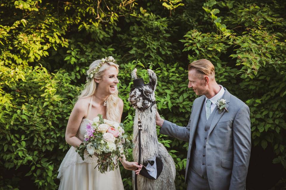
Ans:
{"label": "man's gray suit jacket with a white boutonniere on its lapel", "polygon": [[[212,190],[243,190],[248,171],[251,150],[250,111],[248,106],[237,97],[230,94],[226,88],[223,99],[227,110],[218,113],[215,108],[212,125],[206,142],[206,170],[210,189]],[[160,133],[180,140],[189,141],[186,162],[187,179],[192,144],[205,96],[195,99],[189,124],[186,127],[177,126],[164,121]]]}

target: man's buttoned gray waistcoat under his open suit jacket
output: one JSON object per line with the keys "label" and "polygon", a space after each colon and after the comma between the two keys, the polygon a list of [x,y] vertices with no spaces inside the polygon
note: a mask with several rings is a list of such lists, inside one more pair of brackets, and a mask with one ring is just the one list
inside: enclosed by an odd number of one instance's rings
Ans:
{"label": "man's buttoned gray waistcoat under his open suit jacket", "polygon": [[209,134],[209,128],[216,110],[213,110],[209,119],[206,120],[205,104],[202,105],[200,118],[194,137],[194,148],[191,156],[191,167],[202,177],[207,177],[206,174],[206,141]]}

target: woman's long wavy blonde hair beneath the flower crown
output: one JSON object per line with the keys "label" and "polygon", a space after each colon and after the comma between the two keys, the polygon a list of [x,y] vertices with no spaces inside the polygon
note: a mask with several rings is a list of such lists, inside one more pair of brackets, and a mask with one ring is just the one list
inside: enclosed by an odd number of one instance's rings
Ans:
{"label": "woman's long wavy blonde hair beneath the flower crown", "polygon": [[[87,74],[89,75],[89,73],[91,73],[91,71],[94,70],[94,68],[100,64],[102,60],[98,59],[94,62],[92,62],[89,66],[89,69],[87,71]],[[113,63],[113,62],[105,62],[98,70],[98,72],[96,72],[93,75],[93,78],[87,82],[84,85],[84,89],[83,91],[81,91],[80,95],[77,97],[78,99],[80,98],[84,98],[84,97],[89,97],[94,95],[94,93],[97,91],[97,83],[94,81],[94,79],[97,80],[101,80],[102,76],[104,75],[104,72],[106,69],[108,69],[110,66],[114,66],[116,67],[116,70],[118,72],[118,65]],[[118,89],[117,86],[115,86],[115,93],[111,94],[108,96],[107,100],[106,100],[106,117],[108,120],[110,121],[116,121],[119,122],[120,121],[120,112],[119,112],[119,97],[118,97]]]}

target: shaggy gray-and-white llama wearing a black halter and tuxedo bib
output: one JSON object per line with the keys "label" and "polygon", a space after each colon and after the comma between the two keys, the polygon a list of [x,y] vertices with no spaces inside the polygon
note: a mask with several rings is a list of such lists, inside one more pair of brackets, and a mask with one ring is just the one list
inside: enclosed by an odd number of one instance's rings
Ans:
{"label": "shaggy gray-and-white llama wearing a black halter and tuxedo bib", "polygon": [[[134,69],[131,73],[133,79],[137,79],[137,69]],[[158,142],[156,131],[156,110],[155,104],[155,89],[157,84],[156,74],[148,69],[150,83],[147,85],[141,85],[131,89],[129,93],[128,101],[135,108],[135,118],[133,127],[133,160],[138,162],[139,158],[139,145],[138,145],[138,116],[142,122],[141,131],[141,162],[143,167],[153,174],[154,179],[149,179],[142,176],[143,169],[137,176],[138,190],[159,190],[159,189],[175,189],[175,163],[168,153],[167,149]],[[139,79],[137,79],[139,80]],[[144,84],[143,79],[142,83]],[[154,164],[155,163],[155,164]],[[152,167],[153,166],[153,167]],[[161,169],[159,168],[160,166]],[[156,170],[157,167],[157,170]],[[158,169],[159,168],[159,169]],[[145,170],[145,171],[147,171]],[[155,170],[155,171],[154,171]],[[157,171],[157,172],[156,172]],[[161,174],[159,173],[161,172]],[[148,172],[147,172],[148,173]],[[160,175],[159,175],[160,174]],[[158,176],[159,175],[159,176]],[[133,172],[132,183],[133,189],[135,173]]]}

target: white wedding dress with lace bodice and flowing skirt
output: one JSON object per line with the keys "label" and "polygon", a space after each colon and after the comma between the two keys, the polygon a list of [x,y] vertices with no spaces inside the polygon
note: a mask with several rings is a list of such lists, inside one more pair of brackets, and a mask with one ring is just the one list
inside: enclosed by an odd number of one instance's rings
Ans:
{"label": "white wedding dress with lace bodice and flowing skirt", "polygon": [[[92,96],[91,96],[92,102]],[[89,103],[87,118],[91,110]],[[93,122],[83,118],[77,131],[77,138],[83,141],[86,133],[86,125]],[[60,179],[60,190],[121,190],[124,189],[119,167],[114,171],[102,174],[98,171],[97,157],[88,157],[86,152],[84,160],[75,151],[73,146],[66,153],[63,162],[60,164],[57,178]],[[96,167],[96,168],[95,168]]]}

